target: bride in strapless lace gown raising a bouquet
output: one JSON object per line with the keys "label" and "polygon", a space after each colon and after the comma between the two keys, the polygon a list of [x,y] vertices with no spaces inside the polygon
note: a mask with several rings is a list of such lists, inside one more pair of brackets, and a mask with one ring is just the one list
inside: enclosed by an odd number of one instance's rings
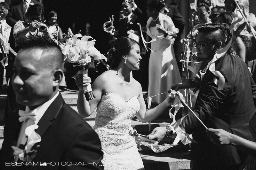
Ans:
{"label": "bride in strapless lace gown raising a bouquet", "polygon": [[145,123],[156,119],[171,105],[171,97],[147,111],[141,85],[130,76],[140,69],[140,46],[128,37],[116,39],[108,51],[111,69],[102,73],[92,84],[95,99],[86,101],[83,87],[91,82],[86,74],[76,77],[79,87],[77,109],[88,117],[97,107],[94,130],[100,137],[104,158],[102,164],[109,169],[144,169],[134,138],[129,135],[131,119],[137,117]]}

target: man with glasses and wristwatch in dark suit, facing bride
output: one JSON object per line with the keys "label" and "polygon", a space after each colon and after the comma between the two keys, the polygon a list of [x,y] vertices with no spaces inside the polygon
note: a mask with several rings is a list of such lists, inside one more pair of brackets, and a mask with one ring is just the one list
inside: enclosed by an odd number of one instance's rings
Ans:
{"label": "man with glasses and wristwatch in dark suit, facing bride", "polygon": [[[215,70],[220,71],[230,85],[222,90],[215,84],[214,79],[218,77],[209,70],[215,52],[225,47],[229,37],[227,24],[207,24],[198,29],[195,44],[198,59],[208,62],[208,66],[194,112],[207,128],[224,129],[252,141],[249,120],[256,111],[252,96],[252,85],[255,84],[247,65],[241,58],[231,55],[230,50],[215,61]],[[186,133],[193,132],[193,139],[197,142],[191,144],[193,170],[238,170],[247,156],[234,146],[213,144],[204,126],[191,112],[186,117],[185,129]],[[166,132],[166,128],[157,128],[150,136],[161,140]],[[168,133],[172,134],[173,130],[169,128]]]}

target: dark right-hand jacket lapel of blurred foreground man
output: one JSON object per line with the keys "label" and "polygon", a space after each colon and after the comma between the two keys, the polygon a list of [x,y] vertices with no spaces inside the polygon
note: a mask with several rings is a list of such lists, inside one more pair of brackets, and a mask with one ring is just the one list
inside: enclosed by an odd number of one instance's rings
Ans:
{"label": "dark right-hand jacket lapel of blurred foreground man", "polygon": [[57,98],[52,102],[52,104],[48,107],[42,118],[39,120],[37,125],[39,126],[35,131],[38,135],[43,138],[46,130],[52,125],[52,120],[55,120],[57,115],[59,114],[62,106],[64,104],[64,100],[61,97],[61,94],[57,96]]}

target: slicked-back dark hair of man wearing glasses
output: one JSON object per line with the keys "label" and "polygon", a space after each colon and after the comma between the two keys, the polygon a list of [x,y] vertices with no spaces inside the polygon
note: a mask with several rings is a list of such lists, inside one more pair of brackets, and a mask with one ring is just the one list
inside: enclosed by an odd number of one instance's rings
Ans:
{"label": "slicked-back dark hair of man wearing glasses", "polygon": [[[231,41],[231,32],[230,26],[225,23],[217,23],[217,24],[206,24],[198,28],[198,33],[207,34],[207,40],[221,41],[221,47],[225,47],[229,41]],[[231,49],[227,51],[228,54],[231,54]]]}

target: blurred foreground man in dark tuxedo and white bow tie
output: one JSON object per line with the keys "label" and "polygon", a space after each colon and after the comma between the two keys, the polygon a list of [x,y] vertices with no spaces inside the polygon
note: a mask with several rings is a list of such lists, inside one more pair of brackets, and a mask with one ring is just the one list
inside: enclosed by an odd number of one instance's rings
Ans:
{"label": "blurred foreground man in dark tuxedo and white bow tie", "polygon": [[[60,47],[40,36],[20,39],[18,46],[12,83],[17,102],[26,107],[4,126],[2,169],[103,169],[98,135],[58,91]],[[33,166],[18,166],[29,162]]]}

